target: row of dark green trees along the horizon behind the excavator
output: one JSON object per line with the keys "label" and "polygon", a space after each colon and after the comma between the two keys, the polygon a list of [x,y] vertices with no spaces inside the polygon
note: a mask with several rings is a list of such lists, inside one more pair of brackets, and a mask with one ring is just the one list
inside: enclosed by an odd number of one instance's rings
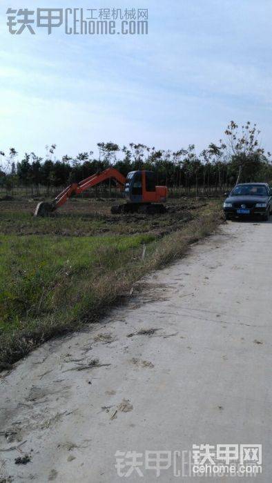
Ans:
{"label": "row of dark green trees along the horizon behind the excavator", "polygon": [[56,145],[46,146],[46,156],[25,153],[18,161],[15,148],[8,155],[0,151],[0,186],[7,191],[17,186],[31,187],[39,194],[45,186],[52,189],[68,186],[113,166],[123,175],[133,170],[153,170],[157,184],[169,188],[223,190],[241,181],[272,181],[270,152],[260,146],[260,130],[248,121],[238,126],[231,121],[224,140],[211,143],[197,154],[195,145],[173,150],[157,150],[144,144],[130,143],[120,147],[113,142],[97,144],[99,155],[93,151],[79,152],[76,157],[64,155],[56,159]]}

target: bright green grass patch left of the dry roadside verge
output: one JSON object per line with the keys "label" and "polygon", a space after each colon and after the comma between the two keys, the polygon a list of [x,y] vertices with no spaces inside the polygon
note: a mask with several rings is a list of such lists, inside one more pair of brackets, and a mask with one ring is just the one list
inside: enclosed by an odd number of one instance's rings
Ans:
{"label": "bright green grass patch left of the dry roadside verge", "polygon": [[[0,330],[21,328],[32,317],[77,311],[82,284],[118,270],[126,255],[152,235],[58,237],[0,236]],[[129,257],[128,257],[129,258]]]}

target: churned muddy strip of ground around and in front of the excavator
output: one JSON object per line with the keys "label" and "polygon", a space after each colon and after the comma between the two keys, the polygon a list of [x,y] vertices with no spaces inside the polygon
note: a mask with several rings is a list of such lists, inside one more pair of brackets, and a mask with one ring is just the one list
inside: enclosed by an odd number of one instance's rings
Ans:
{"label": "churned muddy strip of ground around and in front of the excavator", "polygon": [[[200,215],[215,201],[171,199],[164,215],[112,215],[116,199],[70,199],[48,219],[33,217],[37,199],[15,198],[0,201],[0,231],[3,234],[84,236],[103,233],[154,233],[166,235]],[[122,200],[120,200],[122,202]]]}

